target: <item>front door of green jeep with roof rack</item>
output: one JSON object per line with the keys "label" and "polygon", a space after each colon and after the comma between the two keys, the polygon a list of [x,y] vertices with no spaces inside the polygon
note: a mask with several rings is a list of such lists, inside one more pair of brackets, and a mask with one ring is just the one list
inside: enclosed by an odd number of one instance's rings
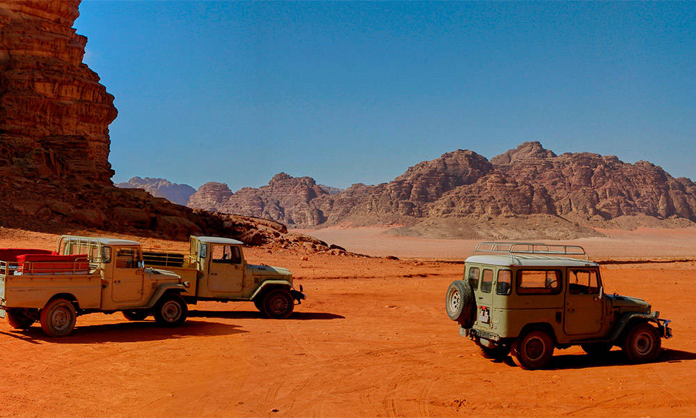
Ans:
{"label": "front door of green jeep with roof rack", "polygon": [[569,268],[563,323],[566,334],[597,334],[602,327],[604,302],[599,297],[596,268]]}

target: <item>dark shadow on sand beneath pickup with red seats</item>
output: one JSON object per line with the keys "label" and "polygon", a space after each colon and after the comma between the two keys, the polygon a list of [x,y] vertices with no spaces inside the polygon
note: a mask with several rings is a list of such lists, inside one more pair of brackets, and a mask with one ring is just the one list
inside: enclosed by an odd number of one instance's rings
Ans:
{"label": "dark shadow on sand beneath pickup with red seats", "polygon": [[180,339],[187,336],[219,336],[248,332],[240,330],[239,325],[212,323],[202,320],[187,320],[175,328],[162,327],[154,320],[143,320],[124,323],[101,325],[78,325],[68,336],[47,336],[41,327],[34,325],[29,330],[3,332],[0,335],[11,336],[28,343],[38,344],[41,341],[52,343],[132,343],[137,341],[159,341]]}

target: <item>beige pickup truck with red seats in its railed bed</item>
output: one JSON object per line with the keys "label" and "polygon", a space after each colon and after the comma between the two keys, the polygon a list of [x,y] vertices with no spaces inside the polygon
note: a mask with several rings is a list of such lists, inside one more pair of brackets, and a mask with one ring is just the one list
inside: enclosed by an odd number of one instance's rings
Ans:
{"label": "beige pickup truck with red seats in its railed bed", "polygon": [[142,254],[140,242],[73,235],[62,235],[56,251],[0,249],[0,317],[21,330],[39,321],[49,336],[70,334],[77,316],[93,312],[180,325],[189,284],[145,268]]}

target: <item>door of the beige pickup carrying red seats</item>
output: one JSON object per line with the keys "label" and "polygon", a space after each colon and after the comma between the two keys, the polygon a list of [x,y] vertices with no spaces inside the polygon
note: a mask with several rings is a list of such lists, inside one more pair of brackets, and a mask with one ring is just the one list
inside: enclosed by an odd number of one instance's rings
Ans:
{"label": "door of the beige pickup carrying red seats", "polygon": [[143,258],[138,247],[116,247],[113,263],[113,302],[138,302],[143,298]]}

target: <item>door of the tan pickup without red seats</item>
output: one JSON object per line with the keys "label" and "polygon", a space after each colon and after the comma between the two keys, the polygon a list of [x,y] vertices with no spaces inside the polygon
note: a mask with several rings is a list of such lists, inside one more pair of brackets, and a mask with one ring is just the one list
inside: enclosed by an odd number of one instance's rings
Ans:
{"label": "door of the tan pickup without red seats", "polygon": [[208,264],[208,290],[212,293],[239,293],[244,285],[242,251],[237,245],[213,245]]}

